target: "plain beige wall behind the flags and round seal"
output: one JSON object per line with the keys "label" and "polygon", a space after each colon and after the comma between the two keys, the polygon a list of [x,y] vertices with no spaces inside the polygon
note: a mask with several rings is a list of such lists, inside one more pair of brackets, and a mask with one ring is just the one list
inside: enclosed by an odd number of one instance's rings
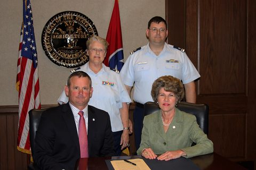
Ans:
{"label": "plain beige wall behind the flags and round seal", "polygon": [[[95,24],[99,36],[106,38],[114,0],[30,0],[38,54],[41,104],[57,104],[71,69],[52,63],[44,54],[41,33],[45,23],[62,11],[77,11],[88,16]],[[18,47],[22,22],[22,1],[0,2],[0,106],[18,105],[15,90]],[[130,51],[147,43],[145,31],[153,16],[165,18],[165,0],[119,0],[125,59]]]}

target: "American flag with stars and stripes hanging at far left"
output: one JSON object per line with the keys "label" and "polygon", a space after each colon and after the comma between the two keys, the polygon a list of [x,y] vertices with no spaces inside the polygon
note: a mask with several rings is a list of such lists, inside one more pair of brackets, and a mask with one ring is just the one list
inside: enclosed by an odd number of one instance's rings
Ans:
{"label": "American flag with stars and stripes hanging at far left", "polygon": [[23,0],[16,88],[19,91],[19,125],[17,149],[31,154],[28,111],[40,109],[39,79],[33,16],[29,0]]}

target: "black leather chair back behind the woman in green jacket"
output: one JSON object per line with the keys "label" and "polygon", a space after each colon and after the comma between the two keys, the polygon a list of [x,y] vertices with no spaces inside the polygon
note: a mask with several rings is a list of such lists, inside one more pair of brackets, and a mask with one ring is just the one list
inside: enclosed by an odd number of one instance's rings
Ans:
{"label": "black leather chair back behind the woman in green jacket", "polygon": [[[196,121],[199,127],[208,134],[209,126],[209,106],[206,104],[193,104],[181,101],[177,107],[180,111],[190,113],[196,116]],[[148,101],[144,105],[144,116],[154,113],[159,110],[159,107],[152,101]]]}

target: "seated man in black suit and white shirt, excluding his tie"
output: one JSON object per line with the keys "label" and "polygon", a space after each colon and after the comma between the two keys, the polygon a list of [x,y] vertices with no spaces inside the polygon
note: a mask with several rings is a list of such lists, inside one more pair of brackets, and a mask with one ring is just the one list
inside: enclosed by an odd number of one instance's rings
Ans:
{"label": "seated man in black suit and white shirt, excluding his tie", "polygon": [[42,114],[33,156],[37,167],[66,170],[75,168],[82,153],[78,138],[79,111],[84,112],[89,157],[115,155],[108,113],[87,105],[93,92],[91,84],[91,78],[85,72],[70,74],[65,87],[69,103],[47,109]]}

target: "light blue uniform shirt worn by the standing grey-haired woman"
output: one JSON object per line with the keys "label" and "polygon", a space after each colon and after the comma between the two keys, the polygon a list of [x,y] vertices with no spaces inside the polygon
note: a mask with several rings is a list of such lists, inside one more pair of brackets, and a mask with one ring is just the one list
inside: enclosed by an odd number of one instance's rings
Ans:
{"label": "light blue uniform shirt worn by the standing grey-haired woman", "polygon": [[[119,74],[110,70],[104,64],[102,64],[102,69],[95,74],[89,68],[88,62],[77,71],[86,72],[92,79],[93,94],[90,98],[89,105],[108,112],[113,132],[122,131],[123,124],[119,108],[122,108],[122,103],[131,103],[131,98]],[[62,92],[58,99],[58,103],[62,104],[62,102],[68,102],[65,91]]]}

